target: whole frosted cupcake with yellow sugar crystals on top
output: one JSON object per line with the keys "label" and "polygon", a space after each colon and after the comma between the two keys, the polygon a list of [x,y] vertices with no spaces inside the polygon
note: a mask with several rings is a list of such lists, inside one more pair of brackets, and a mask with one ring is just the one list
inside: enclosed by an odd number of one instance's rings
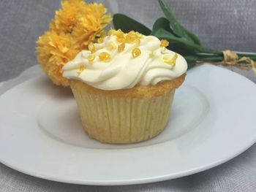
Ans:
{"label": "whole frosted cupcake with yellow sugar crystals on top", "polygon": [[100,142],[142,142],[167,125],[173,96],[187,62],[168,42],[111,30],[63,67],[83,128]]}

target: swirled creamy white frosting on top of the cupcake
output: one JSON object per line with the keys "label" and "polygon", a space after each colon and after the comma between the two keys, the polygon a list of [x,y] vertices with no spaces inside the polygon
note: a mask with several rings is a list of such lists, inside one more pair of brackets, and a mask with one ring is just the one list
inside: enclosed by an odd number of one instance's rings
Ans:
{"label": "swirled creamy white frosting on top of the cupcake", "polygon": [[[135,85],[156,85],[162,80],[173,80],[187,71],[187,62],[181,55],[176,59],[176,66],[170,66],[163,61],[163,56],[169,55],[172,58],[176,53],[160,47],[157,37],[140,38],[138,48],[141,55],[137,58],[132,58],[135,44],[127,43],[124,51],[118,52],[120,43],[116,41],[115,35],[105,37],[102,43],[94,45],[94,61],[88,61],[91,51],[82,50],[63,67],[63,77],[81,80],[102,90],[118,90],[133,88]],[[116,48],[111,50],[110,45],[116,45]],[[99,61],[98,55],[102,52],[109,53],[111,60]],[[78,72],[80,66],[85,68],[82,72]]]}

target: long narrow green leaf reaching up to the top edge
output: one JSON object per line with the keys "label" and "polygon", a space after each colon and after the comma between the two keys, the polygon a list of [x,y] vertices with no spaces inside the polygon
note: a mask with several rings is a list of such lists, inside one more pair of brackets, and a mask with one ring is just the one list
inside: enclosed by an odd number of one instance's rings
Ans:
{"label": "long narrow green leaf reaching up to the top edge", "polygon": [[195,42],[197,45],[201,45],[200,40],[195,34],[188,31],[184,26],[182,26],[176,18],[173,16],[173,13],[170,11],[170,8],[167,6],[165,0],[158,0],[162,11],[164,12],[166,18],[170,21],[170,25],[173,27],[173,31],[179,37],[184,37],[191,42]]}

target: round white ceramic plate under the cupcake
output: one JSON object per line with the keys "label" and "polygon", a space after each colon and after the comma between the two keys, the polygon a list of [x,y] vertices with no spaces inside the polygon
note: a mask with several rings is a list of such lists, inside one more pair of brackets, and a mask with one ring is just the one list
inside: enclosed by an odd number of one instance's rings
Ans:
{"label": "round white ceramic plate under the cupcake", "polygon": [[230,160],[256,141],[255,83],[216,66],[191,69],[170,123],[133,145],[89,139],[69,89],[42,75],[0,97],[0,161],[47,180],[124,185],[169,180]]}

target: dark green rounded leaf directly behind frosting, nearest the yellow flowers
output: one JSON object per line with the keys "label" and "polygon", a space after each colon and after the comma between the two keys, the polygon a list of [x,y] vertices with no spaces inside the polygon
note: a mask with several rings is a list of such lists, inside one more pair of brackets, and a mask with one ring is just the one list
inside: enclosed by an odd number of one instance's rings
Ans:
{"label": "dark green rounded leaf directly behind frosting, nearest the yellow flowers", "polygon": [[120,13],[116,13],[113,16],[113,25],[116,29],[121,29],[125,33],[129,31],[138,31],[140,34],[149,35],[151,34],[151,30],[139,23],[138,21],[129,18],[127,15],[123,15]]}

